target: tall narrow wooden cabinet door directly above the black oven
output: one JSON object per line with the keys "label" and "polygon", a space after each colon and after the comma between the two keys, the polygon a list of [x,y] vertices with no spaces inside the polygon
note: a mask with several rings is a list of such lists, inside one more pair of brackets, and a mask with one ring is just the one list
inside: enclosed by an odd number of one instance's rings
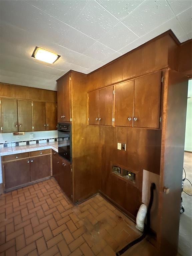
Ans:
{"label": "tall narrow wooden cabinet door directly above the black oven", "polygon": [[57,81],[58,122],[70,122],[70,75]]}

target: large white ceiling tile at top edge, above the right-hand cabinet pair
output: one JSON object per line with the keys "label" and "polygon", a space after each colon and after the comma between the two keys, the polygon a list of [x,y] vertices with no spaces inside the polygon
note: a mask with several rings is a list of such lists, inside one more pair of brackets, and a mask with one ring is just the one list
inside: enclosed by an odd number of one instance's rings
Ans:
{"label": "large white ceiling tile at top edge, above the right-hand cabinet pair", "polygon": [[173,17],[174,14],[165,0],[150,0],[129,14],[123,23],[138,36],[143,36]]}

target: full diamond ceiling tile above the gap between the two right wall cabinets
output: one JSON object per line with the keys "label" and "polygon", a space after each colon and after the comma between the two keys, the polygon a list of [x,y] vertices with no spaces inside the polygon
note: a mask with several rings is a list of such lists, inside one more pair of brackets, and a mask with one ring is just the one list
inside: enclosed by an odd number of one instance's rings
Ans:
{"label": "full diamond ceiling tile above the gap between the two right wall cabinets", "polygon": [[[123,40],[119,40],[123,37]],[[120,50],[127,44],[135,41],[139,38],[130,29],[128,29],[124,24],[119,22],[108,34],[106,34],[100,42],[115,51]]]}

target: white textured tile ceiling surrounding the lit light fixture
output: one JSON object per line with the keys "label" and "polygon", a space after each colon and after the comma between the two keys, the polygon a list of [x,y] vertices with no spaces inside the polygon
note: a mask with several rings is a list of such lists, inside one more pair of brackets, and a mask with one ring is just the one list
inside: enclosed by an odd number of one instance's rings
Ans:
{"label": "white textured tile ceiling surrounding the lit light fixture", "polygon": [[[192,37],[191,0],[0,1],[0,82],[56,90],[70,69],[90,73],[172,29]],[[61,58],[31,58],[36,46]]]}

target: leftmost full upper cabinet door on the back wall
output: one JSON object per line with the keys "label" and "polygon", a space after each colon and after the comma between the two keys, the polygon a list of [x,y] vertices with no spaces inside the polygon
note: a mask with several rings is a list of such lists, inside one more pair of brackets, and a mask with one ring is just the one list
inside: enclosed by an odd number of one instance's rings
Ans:
{"label": "leftmost full upper cabinet door on the back wall", "polygon": [[17,100],[1,98],[2,131],[18,132]]}

